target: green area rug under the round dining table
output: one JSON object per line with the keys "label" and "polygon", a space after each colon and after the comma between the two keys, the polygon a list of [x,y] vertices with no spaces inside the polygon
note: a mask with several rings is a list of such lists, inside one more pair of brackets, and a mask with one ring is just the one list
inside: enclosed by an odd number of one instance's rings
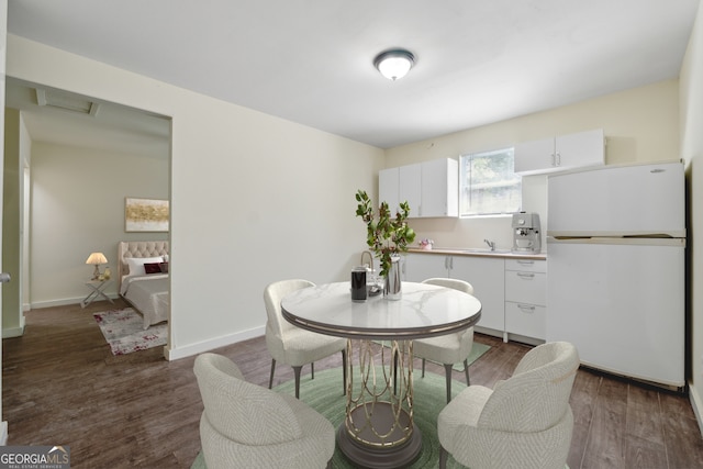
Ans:
{"label": "green area rug under the round dining table", "polygon": [[[437,439],[437,415],[446,405],[445,377],[432,372],[422,378],[419,372],[413,375],[414,386],[414,418],[415,425],[422,433],[422,450],[417,459],[410,466],[412,469],[439,467],[439,440]],[[300,383],[300,399],[324,415],[335,427],[339,427],[345,417],[345,397],[342,395],[342,368],[333,368],[315,372],[315,379],[310,375],[303,377]],[[451,383],[453,395],[466,389],[466,383],[455,380]],[[284,382],[275,388],[277,392],[294,395],[293,381]],[[353,469],[355,466],[338,449],[332,458],[335,469]],[[451,457],[448,468],[464,468]],[[205,469],[202,453],[193,461],[191,469]]]}

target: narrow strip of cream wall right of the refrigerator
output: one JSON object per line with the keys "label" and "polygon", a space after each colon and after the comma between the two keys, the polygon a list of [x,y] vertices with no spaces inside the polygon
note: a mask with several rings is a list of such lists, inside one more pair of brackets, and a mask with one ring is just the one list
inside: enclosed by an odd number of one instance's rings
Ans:
{"label": "narrow strip of cream wall right of the refrigerator", "polygon": [[689,290],[691,294],[691,403],[703,428],[703,9],[681,68],[681,155],[689,182]]}

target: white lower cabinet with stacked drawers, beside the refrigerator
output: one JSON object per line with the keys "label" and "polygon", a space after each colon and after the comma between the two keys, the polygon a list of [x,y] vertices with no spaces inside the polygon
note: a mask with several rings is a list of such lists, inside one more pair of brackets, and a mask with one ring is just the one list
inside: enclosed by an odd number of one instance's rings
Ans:
{"label": "white lower cabinet with stacked drawers, beside the refrigerator", "polygon": [[505,332],[544,340],[547,316],[547,263],[505,260]]}

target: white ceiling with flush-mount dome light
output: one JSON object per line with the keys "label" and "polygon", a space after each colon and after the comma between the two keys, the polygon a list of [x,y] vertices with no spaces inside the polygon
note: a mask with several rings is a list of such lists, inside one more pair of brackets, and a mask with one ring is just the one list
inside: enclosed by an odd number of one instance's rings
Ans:
{"label": "white ceiling with flush-mount dome light", "polygon": [[[22,0],[8,30],[387,148],[676,78],[698,5]],[[417,59],[395,82],[372,66],[390,47]]]}

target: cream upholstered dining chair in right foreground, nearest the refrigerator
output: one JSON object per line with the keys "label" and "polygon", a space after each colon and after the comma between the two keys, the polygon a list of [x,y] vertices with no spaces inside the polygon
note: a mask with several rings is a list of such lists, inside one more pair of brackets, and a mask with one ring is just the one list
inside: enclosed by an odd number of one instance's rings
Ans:
{"label": "cream upholstered dining chair in right foreground, nearest the refrigerator", "polygon": [[437,417],[439,467],[448,454],[472,469],[563,469],[571,445],[569,397],[579,354],[567,342],[539,345],[491,390],[470,386]]}

